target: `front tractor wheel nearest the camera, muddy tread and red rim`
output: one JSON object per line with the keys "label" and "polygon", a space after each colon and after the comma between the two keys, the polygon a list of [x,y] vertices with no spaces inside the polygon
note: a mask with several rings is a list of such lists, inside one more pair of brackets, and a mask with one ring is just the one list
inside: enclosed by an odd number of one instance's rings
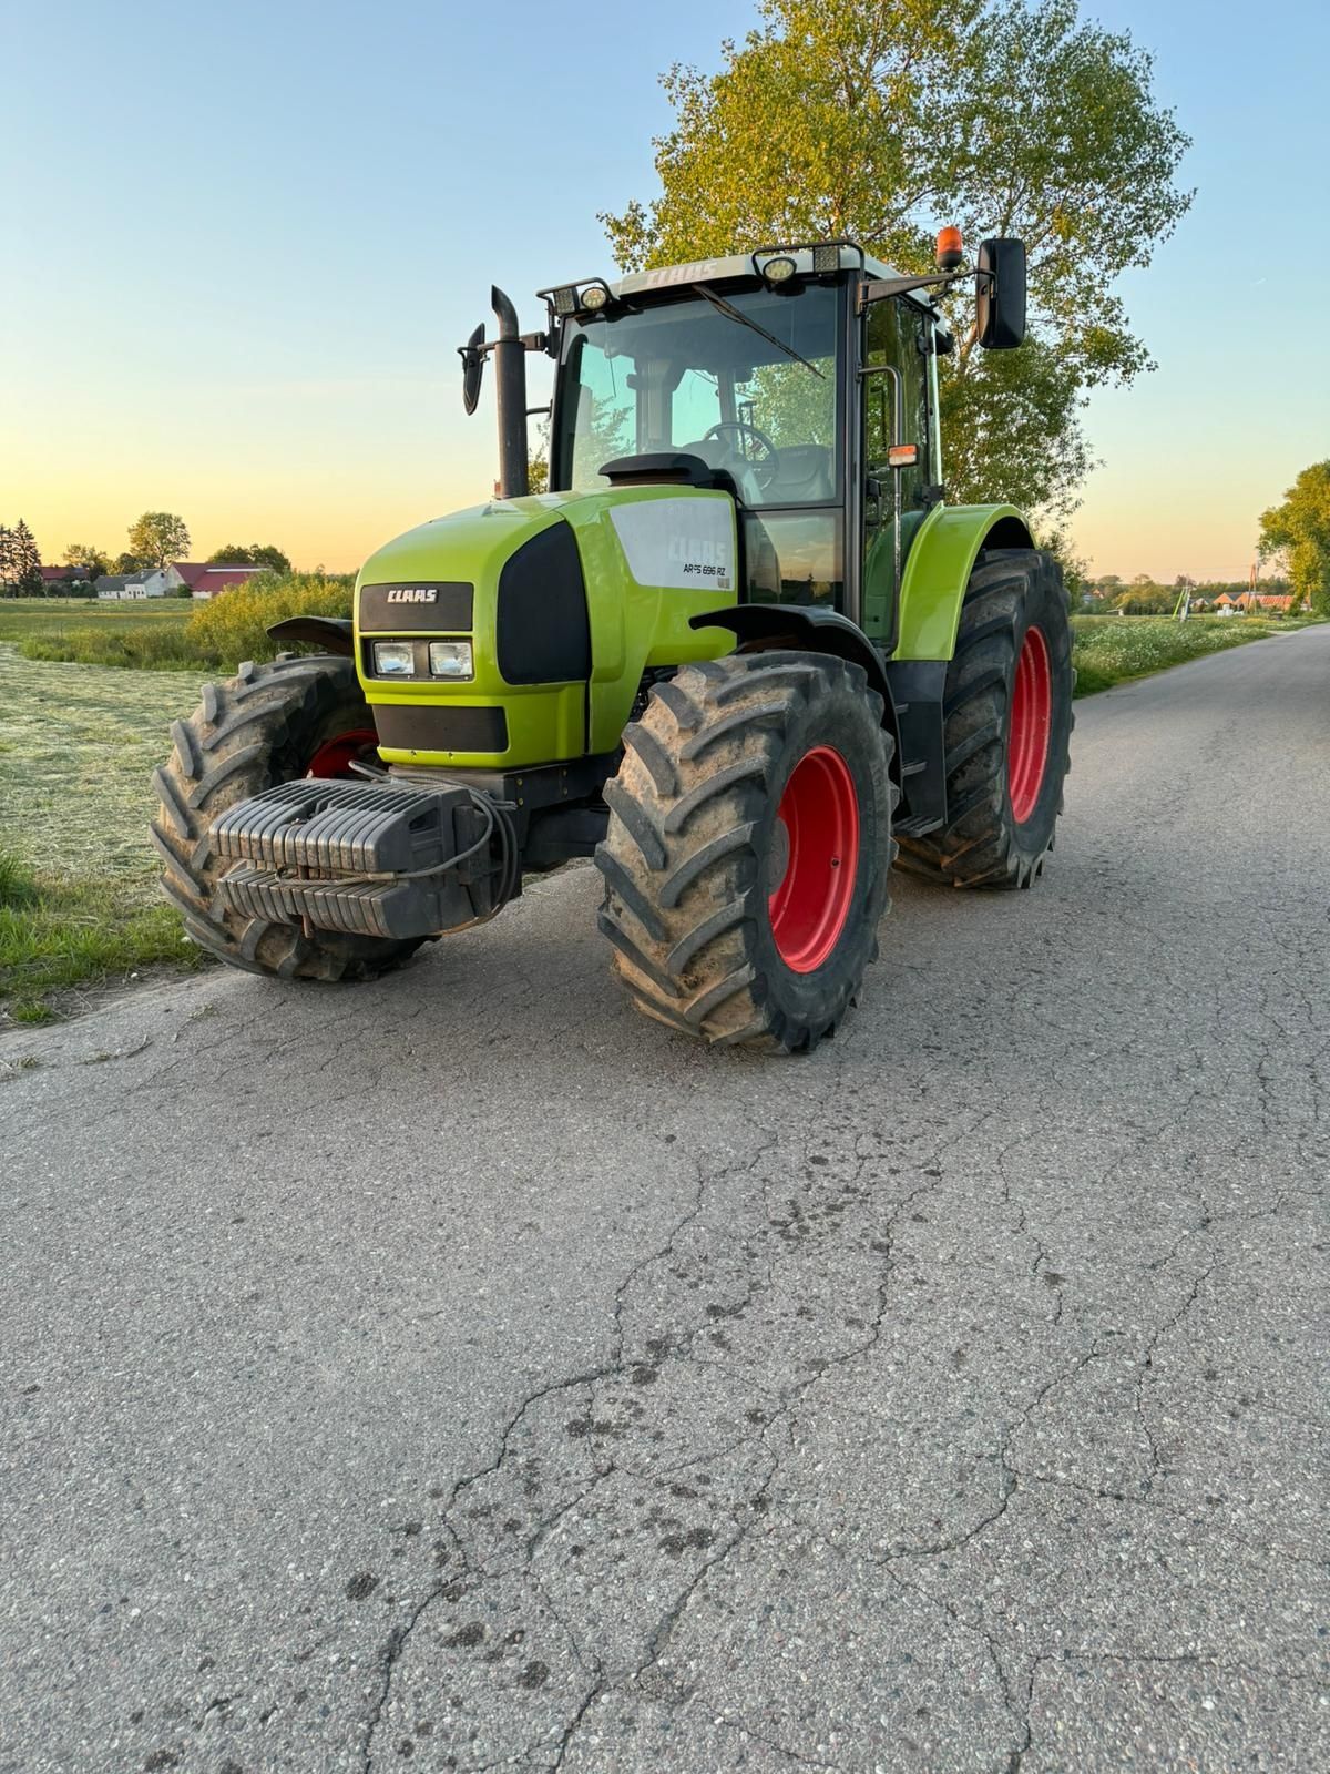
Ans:
{"label": "front tractor wheel nearest the camera, muddy tread and red rim", "polygon": [[[624,729],[599,928],[638,1009],[713,1045],[805,1052],[878,954],[892,740],[858,665],[685,665]],[[846,873],[839,873],[846,869]]]}

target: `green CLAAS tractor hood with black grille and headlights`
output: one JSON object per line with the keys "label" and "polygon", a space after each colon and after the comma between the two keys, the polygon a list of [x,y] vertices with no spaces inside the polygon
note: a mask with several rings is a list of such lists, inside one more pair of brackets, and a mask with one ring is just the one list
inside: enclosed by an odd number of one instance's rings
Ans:
{"label": "green CLAAS tractor hood with black grille and headlights", "polygon": [[[614,750],[647,671],[734,644],[690,621],[736,601],[734,500],[716,488],[536,493],[422,523],[356,580],[379,750],[475,768]],[[434,676],[431,639],[466,642],[470,678]]]}

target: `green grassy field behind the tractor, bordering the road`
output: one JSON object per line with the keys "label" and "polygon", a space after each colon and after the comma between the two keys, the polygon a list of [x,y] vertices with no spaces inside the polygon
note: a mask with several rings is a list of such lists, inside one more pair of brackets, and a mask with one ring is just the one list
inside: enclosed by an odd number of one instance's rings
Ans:
{"label": "green grassy field behind the tractor, bordering the road", "polygon": [[[319,596],[328,607],[326,587],[294,587],[280,614]],[[202,965],[156,892],[151,773],[170,722],[190,713],[209,676],[257,651],[246,642],[262,637],[273,605],[241,593],[218,600],[202,656],[197,614],[184,600],[0,601],[0,1024],[76,1009],[80,993],[108,981]],[[1075,617],[1076,688],[1295,626]],[[105,663],[80,663],[89,655]]]}

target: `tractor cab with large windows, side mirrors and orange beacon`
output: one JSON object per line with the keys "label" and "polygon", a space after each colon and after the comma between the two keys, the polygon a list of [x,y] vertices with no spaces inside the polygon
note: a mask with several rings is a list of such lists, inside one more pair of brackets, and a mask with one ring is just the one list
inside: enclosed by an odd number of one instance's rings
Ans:
{"label": "tractor cab with large windows, side mirrors and orange beacon", "polygon": [[[835,610],[890,651],[910,545],[943,498],[936,360],[952,339],[929,286],[959,275],[954,229],[938,264],[901,277],[823,241],[539,291],[548,328],[521,344],[557,360],[552,491],[722,486],[743,603]],[[984,243],[977,289],[981,342],[1018,344],[1020,241]],[[504,303],[497,293],[500,323]],[[473,387],[486,349],[500,341],[463,351]],[[500,431],[525,381],[504,392]],[[525,490],[523,465],[514,479],[505,491]]]}

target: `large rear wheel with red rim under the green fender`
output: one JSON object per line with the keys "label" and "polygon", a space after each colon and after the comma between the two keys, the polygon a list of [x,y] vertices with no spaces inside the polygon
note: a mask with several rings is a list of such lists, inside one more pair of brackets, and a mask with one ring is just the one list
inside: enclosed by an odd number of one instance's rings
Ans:
{"label": "large rear wheel with red rim under the green fender", "polygon": [[947,669],[947,825],[903,834],[903,869],[998,889],[1043,873],[1069,768],[1075,676],[1057,562],[1034,548],[984,550]]}

